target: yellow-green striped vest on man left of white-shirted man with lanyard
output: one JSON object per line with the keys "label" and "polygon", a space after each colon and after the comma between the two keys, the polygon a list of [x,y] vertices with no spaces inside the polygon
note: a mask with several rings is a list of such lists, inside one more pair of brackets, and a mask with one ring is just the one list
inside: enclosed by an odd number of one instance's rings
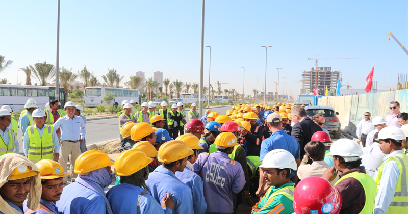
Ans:
{"label": "yellow-green striped vest on man left of white-shirted man with lanyard", "polygon": [[53,159],[53,131],[52,125],[44,125],[42,137],[35,125],[29,126],[29,153],[28,158],[31,161],[39,161],[42,159]]}

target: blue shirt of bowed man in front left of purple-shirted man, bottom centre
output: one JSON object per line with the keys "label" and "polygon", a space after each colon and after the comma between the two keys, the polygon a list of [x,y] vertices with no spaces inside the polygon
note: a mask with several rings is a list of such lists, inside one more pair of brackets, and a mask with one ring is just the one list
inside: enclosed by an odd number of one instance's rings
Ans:
{"label": "blue shirt of bowed man in front left of purple-shirted man, bottom centre", "polygon": [[172,171],[163,166],[157,167],[149,174],[146,185],[158,203],[166,196],[166,193],[170,193],[174,201],[174,214],[194,213],[191,189],[179,180]]}

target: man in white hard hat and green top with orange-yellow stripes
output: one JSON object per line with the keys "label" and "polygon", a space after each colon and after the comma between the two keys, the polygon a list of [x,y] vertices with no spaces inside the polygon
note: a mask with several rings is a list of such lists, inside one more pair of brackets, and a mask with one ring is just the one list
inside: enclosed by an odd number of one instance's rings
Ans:
{"label": "man in white hard hat and green top with orange-yellow stripes", "polygon": [[292,214],[294,183],[289,175],[297,169],[295,158],[284,149],[268,152],[259,166],[266,184],[270,186],[262,199],[253,206],[252,213]]}

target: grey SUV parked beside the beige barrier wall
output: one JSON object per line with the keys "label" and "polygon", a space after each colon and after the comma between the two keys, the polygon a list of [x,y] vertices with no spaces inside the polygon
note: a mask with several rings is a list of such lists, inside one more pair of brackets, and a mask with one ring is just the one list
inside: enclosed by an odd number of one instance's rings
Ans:
{"label": "grey SUV parked beside the beige barrier wall", "polygon": [[340,120],[337,117],[339,115],[338,112],[335,112],[333,108],[330,106],[305,106],[306,115],[312,119],[315,114],[322,114],[324,115],[325,123],[323,128],[328,130],[329,133],[333,135],[333,138],[339,139],[340,138]]}

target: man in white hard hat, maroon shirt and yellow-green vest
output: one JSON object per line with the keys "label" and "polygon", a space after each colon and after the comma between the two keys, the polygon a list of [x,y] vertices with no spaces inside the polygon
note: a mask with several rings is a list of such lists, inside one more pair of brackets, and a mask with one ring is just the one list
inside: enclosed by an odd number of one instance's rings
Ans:
{"label": "man in white hard hat, maroon shirt and yellow-green vest", "polygon": [[339,139],[331,145],[330,154],[333,155],[335,167],[325,170],[323,178],[331,182],[339,171],[342,173],[335,183],[343,197],[340,213],[371,213],[376,183],[366,173],[364,166],[360,166],[360,156],[363,155],[360,145],[350,139]]}

